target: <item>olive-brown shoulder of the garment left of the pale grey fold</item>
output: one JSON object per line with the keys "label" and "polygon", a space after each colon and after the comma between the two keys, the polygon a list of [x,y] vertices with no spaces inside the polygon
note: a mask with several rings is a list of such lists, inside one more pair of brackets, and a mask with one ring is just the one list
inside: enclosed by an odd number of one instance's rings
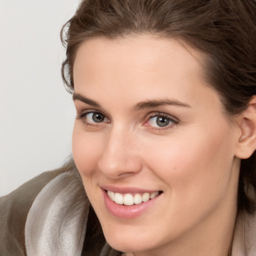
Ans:
{"label": "olive-brown shoulder of the garment left of the pale grey fold", "polygon": [[25,255],[24,227],[35,197],[56,176],[71,171],[74,171],[73,162],[43,172],[0,197],[0,255]]}

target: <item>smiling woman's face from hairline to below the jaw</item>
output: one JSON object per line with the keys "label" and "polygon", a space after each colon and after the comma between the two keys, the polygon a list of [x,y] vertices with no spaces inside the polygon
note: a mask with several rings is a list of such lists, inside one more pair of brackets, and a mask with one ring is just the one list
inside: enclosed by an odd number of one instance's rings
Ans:
{"label": "smiling woman's face from hairline to below the jaw", "polygon": [[73,157],[117,250],[168,255],[182,245],[182,254],[230,228],[239,132],[205,85],[199,58],[150,35],[78,48]]}

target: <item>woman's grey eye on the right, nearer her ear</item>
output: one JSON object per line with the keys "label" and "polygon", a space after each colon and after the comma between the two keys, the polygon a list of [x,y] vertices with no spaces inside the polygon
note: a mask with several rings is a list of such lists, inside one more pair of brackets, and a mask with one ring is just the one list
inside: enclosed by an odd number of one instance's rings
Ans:
{"label": "woman's grey eye on the right, nearer her ear", "polygon": [[173,117],[164,114],[164,113],[154,113],[151,114],[146,123],[145,126],[152,126],[154,128],[167,128],[172,127],[174,124],[177,124],[178,120],[174,119]]}

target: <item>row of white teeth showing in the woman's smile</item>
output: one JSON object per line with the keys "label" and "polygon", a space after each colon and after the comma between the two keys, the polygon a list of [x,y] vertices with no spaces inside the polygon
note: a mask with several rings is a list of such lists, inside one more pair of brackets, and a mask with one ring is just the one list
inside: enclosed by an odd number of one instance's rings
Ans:
{"label": "row of white teeth showing in the woman's smile", "polygon": [[154,198],[156,195],[159,194],[158,191],[152,192],[151,194],[146,192],[143,193],[142,196],[139,193],[136,193],[132,196],[130,193],[124,194],[115,193],[113,191],[107,190],[107,194],[112,201],[115,201],[118,204],[125,204],[125,205],[132,205],[132,204],[139,204],[141,202],[147,202],[149,199]]}

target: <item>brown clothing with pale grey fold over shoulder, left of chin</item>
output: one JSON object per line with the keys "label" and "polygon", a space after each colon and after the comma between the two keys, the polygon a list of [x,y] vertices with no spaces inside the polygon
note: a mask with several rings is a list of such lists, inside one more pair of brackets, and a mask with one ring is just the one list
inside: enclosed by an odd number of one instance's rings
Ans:
{"label": "brown clothing with pale grey fold over shoulder, left of chin", "polygon": [[73,162],[0,198],[0,255],[117,256]]}

